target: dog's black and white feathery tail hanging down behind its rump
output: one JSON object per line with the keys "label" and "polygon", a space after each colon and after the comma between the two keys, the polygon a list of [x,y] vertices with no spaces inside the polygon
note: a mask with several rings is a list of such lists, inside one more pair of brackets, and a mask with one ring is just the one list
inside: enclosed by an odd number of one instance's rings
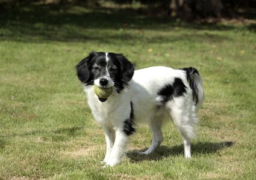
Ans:
{"label": "dog's black and white feathery tail hanging down behind its rump", "polygon": [[189,67],[183,68],[183,70],[187,74],[187,80],[189,82],[189,86],[192,89],[193,101],[196,105],[196,110],[202,106],[202,102],[204,101],[204,89],[202,86],[202,78],[196,70],[196,68]]}

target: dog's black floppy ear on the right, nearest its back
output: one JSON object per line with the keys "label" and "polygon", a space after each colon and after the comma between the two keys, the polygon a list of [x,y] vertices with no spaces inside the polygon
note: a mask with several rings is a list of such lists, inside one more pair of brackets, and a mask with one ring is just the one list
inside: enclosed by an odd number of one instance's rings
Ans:
{"label": "dog's black floppy ear on the right, nearest its back", "polygon": [[134,65],[122,54],[118,55],[118,60],[121,65],[121,80],[129,82],[133,78]]}

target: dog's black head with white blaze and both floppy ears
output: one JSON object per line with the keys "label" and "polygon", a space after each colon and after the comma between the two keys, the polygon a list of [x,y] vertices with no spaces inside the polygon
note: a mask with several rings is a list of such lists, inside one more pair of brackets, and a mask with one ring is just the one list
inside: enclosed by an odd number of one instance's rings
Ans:
{"label": "dog's black head with white blaze and both floppy ears", "polygon": [[75,68],[78,79],[85,85],[115,86],[119,93],[134,74],[134,65],[117,53],[91,52]]}

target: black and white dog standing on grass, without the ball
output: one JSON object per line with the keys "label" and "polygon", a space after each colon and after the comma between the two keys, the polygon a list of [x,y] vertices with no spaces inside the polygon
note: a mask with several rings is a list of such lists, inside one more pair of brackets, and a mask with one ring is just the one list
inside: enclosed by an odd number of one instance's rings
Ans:
{"label": "black and white dog standing on grass, without the ball", "polygon": [[[204,99],[202,79],[195,68],[134,71],[134,65],[122,54],[105,52],[90,53],[75,68],[93,116],[104,129],[107,166],[120,163],[139,122],[148,123],[152,131],[152,145],[140,154],[154,151],[163,142],[161,127],[170,118],[183,136],[184,156],[191,157],[196,112]],[[107,99],[98,98],[93,85],[113,86],[114,91]]]}

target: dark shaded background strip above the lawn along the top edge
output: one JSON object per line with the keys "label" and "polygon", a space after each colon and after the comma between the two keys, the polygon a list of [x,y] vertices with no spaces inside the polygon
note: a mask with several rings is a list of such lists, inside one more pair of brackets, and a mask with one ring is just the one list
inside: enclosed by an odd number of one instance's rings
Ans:
{"label": "dark shaded background strip above the lawn along the top edge", "polygon": [[[140,7],[140,10],[142,10],[141,7],[146,7],[148,13],[155,16],[161,15],[166,17],[180,17],[185,20],[207,17],[234,17],[239,15],[236,13],[238,8],[256,10],[256,0],[4,0],[0,1],[0,8],[19,7],[20,5],[29,4],[51,4],[55,6],[83,5],[84,7],[101,7],[102,4],[105,3],[117,5],[125,4],[126,7],[133,7],[134,4],[137,4],[137,6]],[[115,7],[117,6],[115,5]]]}

